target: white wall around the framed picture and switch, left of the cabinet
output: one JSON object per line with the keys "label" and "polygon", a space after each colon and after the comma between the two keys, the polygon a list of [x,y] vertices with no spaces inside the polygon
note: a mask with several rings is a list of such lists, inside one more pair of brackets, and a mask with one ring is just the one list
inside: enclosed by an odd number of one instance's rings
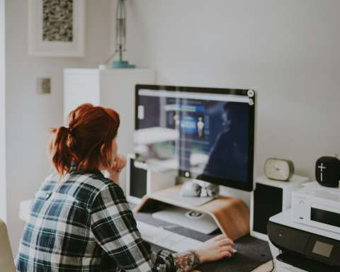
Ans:
{"label": "white wall around the framed picture and switch, left of the cabinet", "polygon": [[[19,203],[33,198],[48,174],[48,130],[63,122],[62,70],[98,67],[108,56],[111,31],[111,1],[86,1],[86,57],[28,57],[27,3],[6,1],[7,212],[14,254],[24,224]],[[52,77],[52,94],[36,93],[37,77]]]}

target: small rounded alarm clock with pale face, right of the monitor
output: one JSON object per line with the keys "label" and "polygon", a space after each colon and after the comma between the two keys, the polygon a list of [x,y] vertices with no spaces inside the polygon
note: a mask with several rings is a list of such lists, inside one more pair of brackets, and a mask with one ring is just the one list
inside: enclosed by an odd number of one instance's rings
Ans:
{"label": "small rounded alarm clock with pale face, right of the monitor", "polygon": [[294,164],[289,159],[266,159],[264,174],[268,179],[276,181],[289,181],[294,174]]}

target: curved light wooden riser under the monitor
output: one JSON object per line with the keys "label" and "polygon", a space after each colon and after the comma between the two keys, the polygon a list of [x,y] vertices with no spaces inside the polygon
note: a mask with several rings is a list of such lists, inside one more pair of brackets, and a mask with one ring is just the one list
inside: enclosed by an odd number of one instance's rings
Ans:
{"label": "curved light wooden riser under the monitor", "polygon": [[166,198],[169,194],[174,192],[180,193],[181,185],[167,188],[157,193],[144,196],[142,201],[135,208],[135,212],[143,212],[154,208],[152,206],[154,201],[174,205],[188,210],[197,210],[204,212],[215,220],[221,232],[232,240],[236,240],[246,234],[249,234],[249,209],[244,201],[238,198],[229,198],[220,196],[215,200],[199,206],[191,206],[186,203],[181,203],[174,199]]}

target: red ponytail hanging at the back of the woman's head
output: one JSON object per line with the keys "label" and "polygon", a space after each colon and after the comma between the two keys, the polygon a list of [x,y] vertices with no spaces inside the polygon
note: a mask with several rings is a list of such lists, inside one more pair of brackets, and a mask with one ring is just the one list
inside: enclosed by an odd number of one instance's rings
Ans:
{"label": "red ponytail hanging at the back of the woman's head", "polygon": [[52,133],[55,134],[55,140],[50,143],[50,153],[52,157],[52,164],[58,173],[64,174],[69,172],[72,163],[72,152],[70,150],[69,129],[65,127],[52,128]]}

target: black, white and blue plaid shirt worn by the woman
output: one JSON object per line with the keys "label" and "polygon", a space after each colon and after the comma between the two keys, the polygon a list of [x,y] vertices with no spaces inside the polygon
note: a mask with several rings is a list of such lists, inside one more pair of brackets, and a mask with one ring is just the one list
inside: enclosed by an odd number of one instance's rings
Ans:
{"label": "black, white and blue plaid shirt worn by the woman", "polygon": [[51,174],[35,195],[16,258],[21,272],[174,271],[142,240],[120,186],[101,172]]}

